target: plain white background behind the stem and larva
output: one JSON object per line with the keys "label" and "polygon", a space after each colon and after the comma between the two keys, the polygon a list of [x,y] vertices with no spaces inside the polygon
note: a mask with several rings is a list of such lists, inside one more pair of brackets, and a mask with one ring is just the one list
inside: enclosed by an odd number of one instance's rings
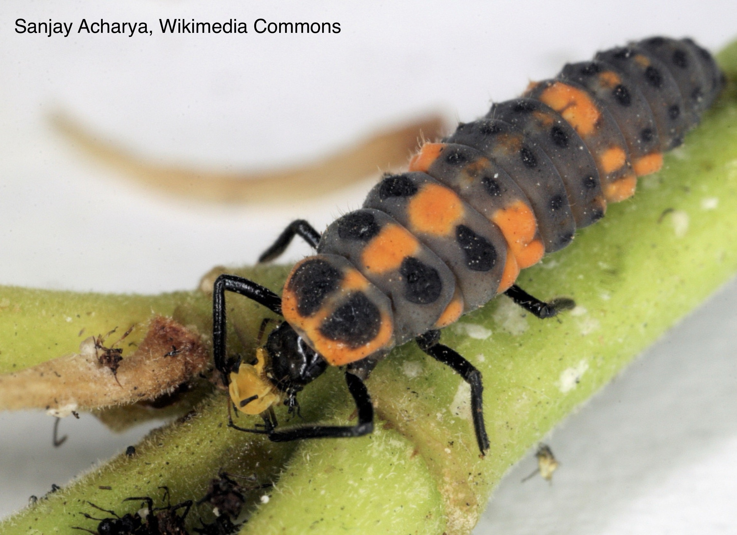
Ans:
{"label": "plain white background behind the stem and larva", "polygon": [[[146,21],[153,36],[18,35],[27,21]],[[249,25],[248,35],[161,35],[158,18]],[[267,21],[339,22],[338,35],[257,35]],[[734,1],[0,4],[0,283],[105,292],[194,287],[242,265],[295,217],[324,228],[368,184],[271,206],[184,203],[76,153],[48,114],[67,111],[158,161],[217,169],[296,164],[427,111],[471,120],[565,61],[632,38],[737,38]],[[307,252],[290,248],[287,259]],[[552,486],[501,485],[478,534],[737,531],[737,285],[689,318],[548,442]],[[0,514],[133,444],[94,419],[0,415]]]}

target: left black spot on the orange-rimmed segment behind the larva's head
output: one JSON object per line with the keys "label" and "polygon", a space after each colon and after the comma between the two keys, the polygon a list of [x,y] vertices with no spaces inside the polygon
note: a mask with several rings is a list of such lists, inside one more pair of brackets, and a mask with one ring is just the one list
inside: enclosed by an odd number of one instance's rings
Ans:
{"label": "left black spot on the orange-rimmed segment behind the larva's head", "polygon": [[340,286],[343,274],[321,259],[307,260],[289,279],[287,288],[297,299],[297,312],[306,318],[318,310],[329,293]]}

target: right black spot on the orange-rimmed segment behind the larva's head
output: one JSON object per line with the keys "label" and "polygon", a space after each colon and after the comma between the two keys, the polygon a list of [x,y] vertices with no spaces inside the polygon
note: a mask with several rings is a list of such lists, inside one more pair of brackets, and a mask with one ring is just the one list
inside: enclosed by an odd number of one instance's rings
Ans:
{"label": "right black spot on the orange-rimmed segment behind the larva's head", "polygon": [[325,338],[356,349],[374,340],[381,329],[381,312],[366,294],[354,293],[335,309],[320,326]]}

